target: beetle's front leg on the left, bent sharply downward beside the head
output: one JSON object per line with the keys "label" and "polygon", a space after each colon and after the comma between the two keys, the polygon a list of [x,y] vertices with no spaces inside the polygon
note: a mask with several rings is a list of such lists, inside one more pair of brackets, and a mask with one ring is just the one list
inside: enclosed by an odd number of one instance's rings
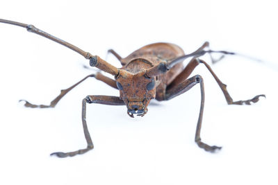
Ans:
{"label": "beetle's front leg on the left, bent sharply downward beside the head", "polygon": [[75,155],[81,155],[94,148],[86,122],[86,103],[99,103],[104,105],[124,105],[124,101],[120,100],[120,98],[116,96],[87,96],[86,98],[84,98],[82,101],[82,125],[85,139],[87,141],[87,148],[76,150],[74,152],[54,152],[51,155],[56,155],[57,157],[73,157]]}

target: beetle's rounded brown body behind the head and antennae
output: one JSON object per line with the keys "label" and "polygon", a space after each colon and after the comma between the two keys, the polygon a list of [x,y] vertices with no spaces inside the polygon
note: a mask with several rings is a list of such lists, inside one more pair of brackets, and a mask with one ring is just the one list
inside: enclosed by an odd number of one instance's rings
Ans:
{"label": "beetle's rounded brown body behind the head and antennae", "polygon": [[[122,69],[131,73],[138,73],[142,69],[149,69],[150,67],[159,64],[160,62],[167,62],[184,55],[183,49],[176,44],[170,43],[155,43],[143,46],[134,51],[126,58],[122,58]],[[174,78],[183,70],[183,64],[176,64],[167,73],[156,77],[156,99],[163,100],[165,90]]]}

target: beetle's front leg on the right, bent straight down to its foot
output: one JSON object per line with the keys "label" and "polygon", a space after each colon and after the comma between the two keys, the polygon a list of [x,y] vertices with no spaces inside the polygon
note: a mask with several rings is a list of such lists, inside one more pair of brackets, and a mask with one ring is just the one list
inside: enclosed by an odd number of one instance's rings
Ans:
{"label": "beetle's front leg on the right, bent straight down to its foot", "polygon": [[184,80],[181,82],[179,85],[176,87],[173,87],[172,89],[168,89],[166,91],[166,100],[170,100],[176,96],[179,96],[180,94],[185,93],[189,89],[191,89],[194,85],[197,83],[200,84],[200,89],[201,89],[201,106],[200,106],[200,111],[199,111],[199,118],[197,122],[197,129],[196,129],[196,134],[195,134],[195,142],[199,146],[199,148],[204,148],[204,150],[208,152],[214,152],[216,149],[221,149],[219,146],[209,146],[206,143],[203,143],[201,141],[201,127],[202,127],[202,118],[203,118],[203,113],[204,113],[204,82],[202,76],[193,76],[192,78],[189,78],[188,80]]}

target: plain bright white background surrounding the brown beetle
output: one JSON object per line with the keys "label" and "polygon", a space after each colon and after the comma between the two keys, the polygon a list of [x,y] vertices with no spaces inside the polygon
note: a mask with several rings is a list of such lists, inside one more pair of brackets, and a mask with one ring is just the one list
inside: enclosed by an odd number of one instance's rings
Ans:
{"label": "plain bright white background surrounding the brown beetle", "polygon": [[[48,104],[94,71],[83,69],[88,60],[70,49],[0,24],[0,184],[277,184],[277,16],[275,1],[1,1],[2,19],[33,24],[101,58],[108,49],[125,57],[153,42],[172,42],[190,53],[205,41],[211,49],[260,58],[264,62],[227,56],[212,67],[234,100],[267,98],[227,105],[199,66],[193,75],[203,76],[206,91],[201,136],[223,146],[220,152],[205,152],[194,142],[196,85],[173,100],[154,100],[143,118],[130,118],[125,106],[88,105],[95,149],[50,157],[85,148],[85,96],[118,91],[91,78],[55,109],[25,108],[18,100]],[[107,60],[120,67],[112,55]]]}

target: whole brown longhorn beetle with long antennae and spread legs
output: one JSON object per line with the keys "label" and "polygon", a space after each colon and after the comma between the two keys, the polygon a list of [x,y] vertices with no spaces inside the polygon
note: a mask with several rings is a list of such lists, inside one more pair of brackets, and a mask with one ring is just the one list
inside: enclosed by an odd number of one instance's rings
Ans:
{"label": "whole brown longhorn beetle with long antennae and spread legs", "polygon": [[[58,42],[63,46],[66,46],[73,51],[83,55],[87,60],[90,60],[91,67],[97,67],[101,71],[110,73],[115,77],[115,80],[108,78],[101,74],[100,72],[92,73],[89,76],[86,76],[76,84],[72,85],[68,89],[63,89],[60,91],[60,94],[51,101],[50,105],[34,105],[29,103],[27,100],[20,100],[25,102],[26,107],[39,107],[39,108],[48,108],[55,107],[65,94],[74,89],[81,82],[87,78],[95,78],[101,80],[107,85],[120,90],[120,96],[87,96],[82,100],[82,123],[83,131],[85,134],[85,140],[87,141],[87,148],[76,150],[74,152],[54,152],[51,155],[56,155],[57,157],[72,157],[75,155],[81,155],[89,150],[94,148],[90,133],[88,131],[86,123],[86,104],[99,103],[104,105],[126,105],[127,114],[134,117],[144,116],[147,114],[147,106],[149,105],[152,99],[158,101],[170,100],[180,94],[185,93],[193,86],[199,84],[201,91],[201,105],[199,110],[199,118],[197,121],[197,129],[195,133],[195,142],[199,148],[203,148],[208,152],[214,152],[215,150],[220,150],[219,146],[209,146],[201,140],[200,132],[202,127],[202,116],[204,112],[204,82],[202,76],[196,75],[190,77],[190,74],[193,72],[195,67],[199,64],[204,64],[206,69],[211,73],[213,78],[218,83],[220,89],[222,90],[224,97],[227,100],[228,105],[251,105],[251,103],[256,103],[259,101],[259,97],[265,97],[264,94],[254,96],[249,100],[239,100],[234,101],[229,92],[227,91],[227,85],[224,85],[215,75],[211,67],[204,61],[199,59],[200,56],[205,55],[206,53],[222,53],[224,55],[236,55],[236,53],[228,51],[211,51],[205,50],[208,48],[209,43],[205,42],[199,49],[195,52],[186,55],[183,52],[181,47],[176,44],[170,43],[154,43],[134,51],[126,58],[122,58],[114,50],[108,50],[108,53],[115,55],[117,60],[120,60],[122,67],[117,68],[112,64],[109,64],[105,60],[101,59],[97,55],[92,55],[91,53],[85,52],[78,47],[63,41],[49,33],[44,32],[36,28],[31,24],[23,24],[16,21],[9,21],[6,19],[0,19],[1,23],[12,24],[15,26],[21,26],[26,28],[29,32],[41,35],[48,39]],[[190,62],[186,67],[183,67],[183,60],[191,58]],[[216,62],[216,60],[213,60]]]}

